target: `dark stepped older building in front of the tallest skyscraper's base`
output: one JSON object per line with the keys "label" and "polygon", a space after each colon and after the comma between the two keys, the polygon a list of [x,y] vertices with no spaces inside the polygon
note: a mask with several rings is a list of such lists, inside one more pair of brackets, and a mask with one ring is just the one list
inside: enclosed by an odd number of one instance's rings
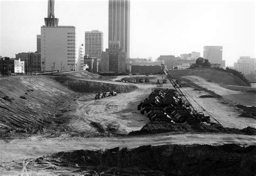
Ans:
{"label": "dark stepped older building in front of the tallest skyscraper's base", "polygon": [[126,72],[126,53],[120,48],[119,41],[110,41],[109,49],[102,52],[100,60],[101,72]]}

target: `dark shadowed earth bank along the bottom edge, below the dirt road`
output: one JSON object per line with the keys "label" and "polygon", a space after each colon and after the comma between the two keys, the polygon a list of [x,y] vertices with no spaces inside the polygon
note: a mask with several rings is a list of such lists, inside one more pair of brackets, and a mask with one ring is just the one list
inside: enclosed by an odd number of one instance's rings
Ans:
{"label": "dark shadowed earth bank along the bottom edge, below the dirt road", "polygon": [[49,166],[56,173],[61,166],[90,175],[255,175],[255,155],[256,146],[235,144],[117,147],[59,152],[31,161],[26,170]]}

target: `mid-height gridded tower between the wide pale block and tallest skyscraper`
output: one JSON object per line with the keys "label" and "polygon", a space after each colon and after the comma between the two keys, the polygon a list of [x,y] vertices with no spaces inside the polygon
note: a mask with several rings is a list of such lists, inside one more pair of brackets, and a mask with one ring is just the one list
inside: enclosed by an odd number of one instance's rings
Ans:
{"label": "mid-height gridded tower between the wide pale block and tallest skyscraper", "polygon": [[84,55],[89,58],[101,58],[103,52],[103,32],[86,31]]}

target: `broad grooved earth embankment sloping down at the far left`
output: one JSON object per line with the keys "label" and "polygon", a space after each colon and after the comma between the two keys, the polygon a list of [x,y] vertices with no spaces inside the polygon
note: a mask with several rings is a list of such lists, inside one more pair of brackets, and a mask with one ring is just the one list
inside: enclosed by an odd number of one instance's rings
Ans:
{"label": "broad grooved earth embankment sloping down at the far left", "polygon": [[71,109],[66,102],[75,93],[60,83],[46,76],[1,78],[0,82],[1,137],[6,131],[35,133],[67,120],[55,114]]}

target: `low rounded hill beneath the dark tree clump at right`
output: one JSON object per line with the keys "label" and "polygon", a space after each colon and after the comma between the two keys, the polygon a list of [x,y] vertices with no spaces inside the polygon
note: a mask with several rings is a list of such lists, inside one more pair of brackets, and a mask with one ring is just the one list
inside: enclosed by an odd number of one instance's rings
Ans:
{"label": "low rounded hill beneath the dark tree clump at right", "polygon": [[231,73],[220,71],[213,68],[196,68],[196,69],[183,69],[169,71],[173,78],[179,79],[180,76],[194,75],[219,83],[221,86],[236,85],[248,86],[246,82],[242,81],[238,76]]}

